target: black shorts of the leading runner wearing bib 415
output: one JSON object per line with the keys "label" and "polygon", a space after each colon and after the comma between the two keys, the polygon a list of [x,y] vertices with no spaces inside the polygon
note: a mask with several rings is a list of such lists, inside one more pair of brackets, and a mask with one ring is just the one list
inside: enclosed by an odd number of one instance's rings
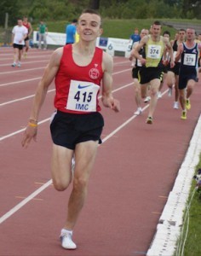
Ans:
{"label": "black shorts of the leading runner wearing bib 415", "polygon": [[78,143],[101,143],[103,126],[104,119],[99,112],[77,114],[57,111],[51,121],[50,131],[53,143],[74,150]]}

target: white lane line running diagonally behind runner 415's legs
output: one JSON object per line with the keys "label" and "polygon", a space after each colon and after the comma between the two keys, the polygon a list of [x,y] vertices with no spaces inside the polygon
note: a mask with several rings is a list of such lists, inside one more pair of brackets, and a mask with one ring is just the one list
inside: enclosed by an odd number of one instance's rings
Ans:
{"label": "white lane line running diagonally behind runner 415's legs", "polygon": [[[148,108],[148,105],[143,108],[143,111]],[[109,138],[111,138],[114,134],[116,134],[118,131],[120,131],[121,129],[123,129],[123,127],[125,125],[128,125],[129,122],[131,122],[133,119],[135,119],[137,116],[133,115],[131,118],[129,118],[127,121],[125,121],[122,125],[118,126],[118,128],[114,131],[112,131],[109,135],[107,135],[103,140],[102,143],[105,143]],[[47,120],[47,119],[46,119]],[[43,120],[44,122],[44,120]],[[22,129],[21,131],[24,131],[25,129]],[[36,191],[34,191],[31,195],[27,196],[26,199],[24,199],[23,201],[20,201],[20,203],[18,205],[16,205],[15,207],[13,207],[12,209],[9,210],[9,212],[6,212],[1,218],[0,218],[0,224],[3,223],[3,221],[5,221],[7,218],[11,217],[14,212],[17,212],[20,210],[21,207],[24,207],[29,201],[31,201],[35,196],[37,196],[38,194],[40,194],[41,192],[43,192],[44,189],[47,189],[49,187],[49,185],[52,184],[52,179],[50,179],[47,183],[44,183],[43,186],[41,186],[39,189],[37,189]]]}

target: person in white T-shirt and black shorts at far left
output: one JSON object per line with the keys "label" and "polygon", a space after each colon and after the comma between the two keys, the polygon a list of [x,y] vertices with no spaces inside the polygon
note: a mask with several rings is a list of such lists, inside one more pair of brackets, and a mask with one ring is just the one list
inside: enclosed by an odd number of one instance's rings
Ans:
{"label": "person in white T-shirt and black shorts at far left", "polygon": [[12,67],[21,67],[21,55],[25,45],[25,38],[27,37],[28,30],[23,26],[22,19],[17,20],[18,25],[14,26],[12,30],[12,44],[14,47],[14,62]]}

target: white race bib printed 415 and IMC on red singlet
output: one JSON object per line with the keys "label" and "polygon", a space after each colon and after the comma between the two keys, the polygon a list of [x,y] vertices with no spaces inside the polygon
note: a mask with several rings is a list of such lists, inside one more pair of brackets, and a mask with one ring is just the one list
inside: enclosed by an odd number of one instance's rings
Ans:
{"label": "white race bib printed 415 and IMC on red singlet", "polygon": [[100,86],[90,82],[71,80],[66,109],[95,112],[96,98]]}

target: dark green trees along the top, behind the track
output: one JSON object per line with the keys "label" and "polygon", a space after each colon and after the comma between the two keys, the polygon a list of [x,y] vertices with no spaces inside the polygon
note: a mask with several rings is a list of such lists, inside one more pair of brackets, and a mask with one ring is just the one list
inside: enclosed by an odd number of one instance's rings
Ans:
{"label": "dark green trees along the top, behind the track", "polygon": [[98,9],[110,19],[201,19],[200,0],[1,0],[0,26],[6,13],[13,26],[23,15],[32,22],[72,20],[86,8]]}

